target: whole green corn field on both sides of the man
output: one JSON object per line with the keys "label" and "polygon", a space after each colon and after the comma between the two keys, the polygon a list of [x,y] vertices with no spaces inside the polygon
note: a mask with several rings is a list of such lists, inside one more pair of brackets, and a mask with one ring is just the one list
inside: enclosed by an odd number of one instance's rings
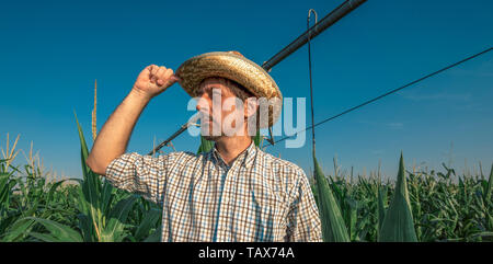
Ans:
{"label": "whole green corn field on both sides of the man", "polygon": [[[83,176],[78,180],[49,180],[32,154],[27,164],[14,167],[16,140],[12,149],[8,140],[0,159],[0,241],[159,241],[161,208],[93,173],[78,120],[77,126]],[[262,141],[257,135],[255,145]],[[202,139],[198,152],[211,147]],[[346,175],[336,160],[334,175],[325,176],[313,161],[312,191],[326,242],[493,241],[493,167],[489,175],[458,175],[445,164],[442,172],[406,171],[401,154],[392,182]]]}

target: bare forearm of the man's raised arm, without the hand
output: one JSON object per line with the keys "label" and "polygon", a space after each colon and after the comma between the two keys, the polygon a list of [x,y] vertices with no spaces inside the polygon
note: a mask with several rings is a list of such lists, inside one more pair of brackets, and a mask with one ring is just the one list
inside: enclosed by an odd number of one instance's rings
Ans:
{"label": "bare forearm of the man's raised arm, without the hand", "polygon": [[149,101],[148,95],[131,90],[113,112],[98,134],[87,160],[93,172],[104,175],[106,167],[125,153],[131,130]]}

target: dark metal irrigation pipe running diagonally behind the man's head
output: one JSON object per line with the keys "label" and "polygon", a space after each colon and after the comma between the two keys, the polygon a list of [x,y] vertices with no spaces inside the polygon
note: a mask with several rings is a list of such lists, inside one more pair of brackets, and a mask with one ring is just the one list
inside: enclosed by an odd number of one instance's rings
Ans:
{"label": "dark metal irrigation pipe running diagonally behind the man's head", "polygon": [[[294,42],[291,42],[289,45],[284,47],[280,51],[278,51],[276,55],[274,55],[271,59],[265,61],[262,65],[262,68],[264,70],[270,71],[275,65],[280,62],[283,59],[291,55],[294,51],[296,51],[298,48],[303,46],[308,38],[313,39],[317,37],[320,33],[322,33],[324,30],[326,30],[329,26],[335,24],[337,21],[340,21],[342,18],[351,13],[353,10],[362,5],[362,3],[366,2],[366,0],[346,0],[341,5],[339,5],[336,9],[334,9],[332,12],[330,12],[328,15],[325,15],[320,22],[316,23],[312,27],[307,30],[303,34],[298,36]],[[197,115],[198,116],[198,115]],[[151,150],[148,154],[153,154],[158,150],[160,150],[162,147],[164,147],[167,144],[169,144],[171,140],[173,140],[175,137],[177,137],[180,134],[185,131],[188,126],[191,126],[193,123],[187,122],[186,124],[183,124],[177,131],[175,131],[171,137],[169,137],[167,140],[158,145],[153,150]],[[270,130],[271,134],[271,130]],[[271,135],[272,137],[272,135]],[[271,138],[271,140],[273,140]]]}

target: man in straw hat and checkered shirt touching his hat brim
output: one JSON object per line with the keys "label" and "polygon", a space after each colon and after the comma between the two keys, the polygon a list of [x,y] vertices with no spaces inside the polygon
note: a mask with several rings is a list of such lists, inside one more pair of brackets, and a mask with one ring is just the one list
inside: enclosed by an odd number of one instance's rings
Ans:
{"label": "man in straw hat and checkered shirt touching his hat brim", "polygon": [[[197,99],[202,134],[214,149],[157,158],[125,153],[144,107],[175,82]],[[228,104],[231,99],[239,100]],[[322,241],[305,172],[263,152],[249,133],[272,126],[280,106],[274,80],[236,51],[193,57],[176,74],[151,65],[104,124],[87,163],[114,186],[162,206],[161,241]]]}

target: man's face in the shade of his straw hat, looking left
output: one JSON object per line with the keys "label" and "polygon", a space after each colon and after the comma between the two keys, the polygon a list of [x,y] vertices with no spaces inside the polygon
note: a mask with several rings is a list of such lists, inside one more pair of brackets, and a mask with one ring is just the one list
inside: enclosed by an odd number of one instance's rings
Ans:
{"label": "man's face in the shade of his straw hat, looking left", "polygon": [[207,140],[216,141],[220,137],[232,136],[236,129],[243,128],[239,123],[244,120],[244,108],[237,107],[242,106],[237,105],[241,101],[223,80],[217,78],[204,80],[198,96],[196,108],[203,114],[200,129]]}

